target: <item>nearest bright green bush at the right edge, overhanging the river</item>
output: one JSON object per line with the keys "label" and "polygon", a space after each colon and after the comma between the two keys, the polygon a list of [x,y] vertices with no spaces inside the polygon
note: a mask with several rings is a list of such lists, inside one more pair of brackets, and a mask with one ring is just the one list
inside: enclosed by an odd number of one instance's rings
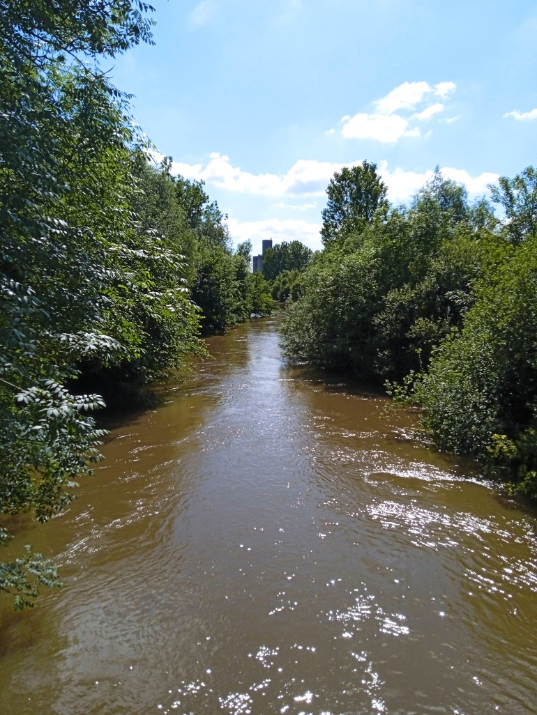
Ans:
{"label": "nearest bright green bush at the right edge, overhanging the river", "polygon": [[425,423],[451,451],[537,469],[535,240],[504,253],[475,285],[463,330],[442,343],[415,385]]}

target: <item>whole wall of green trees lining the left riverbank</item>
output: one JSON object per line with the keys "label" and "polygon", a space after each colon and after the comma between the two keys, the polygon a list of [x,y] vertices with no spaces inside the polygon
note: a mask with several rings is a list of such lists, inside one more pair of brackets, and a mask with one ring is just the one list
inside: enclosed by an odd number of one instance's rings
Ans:
{"label": "whole wall of green trees lining the left riverbank", "polygon": [[[0,514],[45,521],[99,458],[79,383],[144,383],[268,312],[203,184],[156,167],[99,59],[151,42],[130,0],[0,0]],[[9,533],[0,526],[0,545]],[[0,563],[16,608],[52,564]]]}

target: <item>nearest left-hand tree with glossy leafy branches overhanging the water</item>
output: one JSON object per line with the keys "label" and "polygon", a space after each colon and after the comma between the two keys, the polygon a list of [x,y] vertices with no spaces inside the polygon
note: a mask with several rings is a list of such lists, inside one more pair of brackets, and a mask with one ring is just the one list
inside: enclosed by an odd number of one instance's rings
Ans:
{"label": "nearest left-hand tree with glossy leafy branches overhanging the water", "polygon": [[[65,384],[83,358],[140,354],[129,306],[159,301],[142,263],[166,258],[133,224],[127,104],[96,61],[82,61],[151,41],[150,10],[0,0],[1,514],[45,521],[73,498],[98,458],[103,433],[88,412],[102,400]],[[0,528],[0,544],[8,538]],[[0,564],[16,608],[39,583],[56,576],[38,554]]]}

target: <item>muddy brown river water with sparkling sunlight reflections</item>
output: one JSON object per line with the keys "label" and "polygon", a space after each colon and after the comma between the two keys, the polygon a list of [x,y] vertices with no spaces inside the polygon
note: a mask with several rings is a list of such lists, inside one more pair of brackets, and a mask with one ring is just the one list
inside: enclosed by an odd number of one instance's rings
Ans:
{"label": "muddy brown river water with sparkling sunlight reflections", "polygon": [[0,713],[537,712],[536,516],[286,365],[278,318],[122,424],[31,541],[67,587],[0,612]]}

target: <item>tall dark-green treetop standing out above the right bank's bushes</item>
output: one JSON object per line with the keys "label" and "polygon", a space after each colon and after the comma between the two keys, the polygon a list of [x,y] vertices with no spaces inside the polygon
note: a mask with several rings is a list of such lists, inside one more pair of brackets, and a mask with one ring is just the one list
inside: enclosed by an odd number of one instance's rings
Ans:
{"label": "tall dark-green treetop standing out above the right bank's bushes", "polygon": [[374,212],[387,208],[387,187],[377,174],[377,164],[362,162],[356,167],[343,167],[330,179],[323,209],[321,237],[325,247],[340,236],[362,230],[372,221]]}

